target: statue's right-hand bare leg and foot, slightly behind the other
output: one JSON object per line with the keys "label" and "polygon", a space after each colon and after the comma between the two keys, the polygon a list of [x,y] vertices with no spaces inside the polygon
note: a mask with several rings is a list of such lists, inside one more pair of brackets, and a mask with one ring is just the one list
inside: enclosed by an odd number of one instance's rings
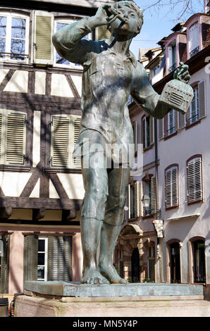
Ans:
{"label": "statue's right-hand bare leg and foot, slightly behind the other", "polygon": [[126,284],[113,266],[113,251],[116,246],[118,235],[124,218],[124,206],[130,168],[113,169],[109,173],[109,196],[106,204],[104,223],[101,229],[101,249],[99,258],[99,270],[102,275],[113,283]]}

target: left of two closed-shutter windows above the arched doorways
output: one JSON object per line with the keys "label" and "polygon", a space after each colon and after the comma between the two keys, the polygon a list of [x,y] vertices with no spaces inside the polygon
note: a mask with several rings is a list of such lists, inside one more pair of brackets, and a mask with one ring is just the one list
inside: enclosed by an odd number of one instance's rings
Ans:
{"label": "left of two closed-shutter windows above the arched doorways", "polygon": [[165,170],[166,208],[178,207],[178,165]]}

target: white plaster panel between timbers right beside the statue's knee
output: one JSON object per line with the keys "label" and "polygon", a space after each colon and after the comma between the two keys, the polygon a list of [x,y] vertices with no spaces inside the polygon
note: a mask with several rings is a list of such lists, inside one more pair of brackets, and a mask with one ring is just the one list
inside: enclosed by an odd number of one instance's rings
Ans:
{"label": "white plaster panel between timbers right beside the statue's knee", "polygon": [[58,173],[58,178],[69,199],[83,199],[85,189],[83,186],[82,174]]}

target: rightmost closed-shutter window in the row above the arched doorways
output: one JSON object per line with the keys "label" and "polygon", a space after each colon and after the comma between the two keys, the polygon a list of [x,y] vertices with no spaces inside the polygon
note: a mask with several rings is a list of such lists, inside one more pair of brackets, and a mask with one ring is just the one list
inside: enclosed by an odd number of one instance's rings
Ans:
{"label": "rightmost closed-shutter window in the row above the arched doorways", "polygon": [[197,156],[187,161],[187,200],[191,203],[202,199],[202,156]]}

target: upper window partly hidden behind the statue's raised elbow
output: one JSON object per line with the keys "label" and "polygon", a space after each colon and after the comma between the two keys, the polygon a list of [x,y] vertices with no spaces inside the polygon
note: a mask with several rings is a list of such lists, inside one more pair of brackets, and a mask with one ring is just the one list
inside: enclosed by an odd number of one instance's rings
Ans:
{"label": "upper window partly hidden behind the statue's raised elbow", "polygon": [[[66,25],[74,23],[74,22],[76,22],[76,20],[57,20],[55,22],[55,31],[54,32],[60,30],[62,27],[65,27]],[[88,35],[83,37],[83,39],[92,39],[92,34],[89,33]],[[62,67],[66,67],[66,68],[82,69],[82,65],[79,65],[78,63],[71,63],[64,58],[61,58],[61,56],[59,56],[59,54],[56,52],[56,49],[54,49],[54,65],[62,66]]]}

